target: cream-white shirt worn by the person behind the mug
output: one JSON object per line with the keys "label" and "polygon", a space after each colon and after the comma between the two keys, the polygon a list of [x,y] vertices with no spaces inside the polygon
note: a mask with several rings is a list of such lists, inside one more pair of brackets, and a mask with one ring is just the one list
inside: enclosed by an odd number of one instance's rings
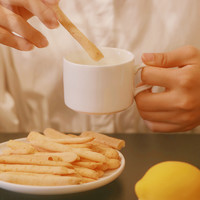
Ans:
{"label": "cream-white shirt worn by the person behind the mug", "polygon": [[[60,6],[97,46],[132,51],[137,64],[144,52],[184,45],[200,48],[199,0],[62,0]],[[46,127],[63,132],[150,132],[135,104],[102,116],[66,107],[62,60],[72,48],[81,47],[62,26],[49,30],[35,17],[30,23],[47,37],[49,46],[21,52],[0,45],[0,132],[43,131]]]}

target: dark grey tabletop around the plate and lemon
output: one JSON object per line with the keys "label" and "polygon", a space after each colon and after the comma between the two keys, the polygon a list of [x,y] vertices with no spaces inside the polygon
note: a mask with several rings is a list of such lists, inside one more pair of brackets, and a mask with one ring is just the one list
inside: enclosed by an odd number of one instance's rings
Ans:
{"label": "dark grey tabletop around the plate and lemon", "polygon": [[[0,142],[27,134],[0,134]],[[126,166],[120,177],[98,189],[78,194],[27,195],[0,189],[0,200],[137,200],[134,185],[152,165],[161,161],[189,162],[200,168],[200,135],[193,134],[116,134],[124,139],[122,153]]]}

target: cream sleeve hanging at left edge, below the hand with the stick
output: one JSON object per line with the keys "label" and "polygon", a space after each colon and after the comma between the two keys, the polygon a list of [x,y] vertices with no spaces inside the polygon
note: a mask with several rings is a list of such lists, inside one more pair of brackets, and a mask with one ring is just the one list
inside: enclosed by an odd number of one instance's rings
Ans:
{"label": "cream sleeve hanging at left edge, below the hand with the stick", "polygon": [[23,95],[10,48],[0,45],[0,132],[20,130],[20,121],[28,120],[26,105],[23,104]]}

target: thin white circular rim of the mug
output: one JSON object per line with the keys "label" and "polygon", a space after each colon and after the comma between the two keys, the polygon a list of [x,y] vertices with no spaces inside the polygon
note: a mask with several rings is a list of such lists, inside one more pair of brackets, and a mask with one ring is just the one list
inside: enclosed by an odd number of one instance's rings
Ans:
{"label": "thin white circular rim of the mug", "polygon": [[[120,66],[120,65],[124,65],[124,64],[127,64],[127,63],[130,63],[130,62],[133,62],[135,60],[135,55],[129,51],[129,50],[126,50],[126,49],[122,49],[122,48],[115,48],[115,47],[100,47],[99,48],[100,50],[102,49],[111,49],[111,50],[114,50],[114,51],[121,51],[121,52],[124,52],[126,53],[127,55],[130,56],[129,59],[127,59],[126,61],[122,61],[122,62],[119,62],[119,63],[113,63],[113,64],[101,64],[101,65],[98,65],[98,61],[96,62],[96,64],[81,64],[81,63],[76,63],[76,62],[73,62],[69,59],[67,59],[67,56],[65,56],[63,58],[64,62],[67,62],[69,64],[73,64],[74,66],[84,66],[84,67],[93,67],[93,68],[99,68],[99,67],[113,67],[113,66]],[[84,50],[77,50],[77,51],[74,51],[73,53],[76,53],[78,54],[79,52],[83,52]]]}

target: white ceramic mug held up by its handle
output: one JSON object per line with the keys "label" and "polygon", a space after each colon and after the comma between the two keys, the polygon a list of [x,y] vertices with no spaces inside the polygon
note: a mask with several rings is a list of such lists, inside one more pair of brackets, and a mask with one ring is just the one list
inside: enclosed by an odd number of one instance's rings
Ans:
{"label": "white ceramic mug held up by its handle", "polygon": [[135,74],[144,66],[134,65],[134,55],[123,49],[100,48],[104,58],[93,61],[84,51],[64,59],[65,104],[78,112],[111,114],[132,105],[134,96],[149,89],[135,88]]}

